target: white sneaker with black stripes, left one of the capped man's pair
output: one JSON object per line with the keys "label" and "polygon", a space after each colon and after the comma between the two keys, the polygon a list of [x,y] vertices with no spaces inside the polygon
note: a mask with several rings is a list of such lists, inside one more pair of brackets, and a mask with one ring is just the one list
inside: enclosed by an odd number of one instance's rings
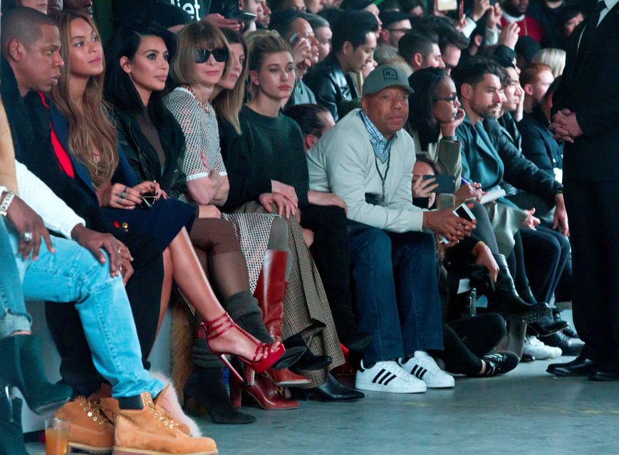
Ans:
{"label": "white sneaker with black stripes, left one of the capped man's pair", "polygon": [[372,368],[365,369],[363,360],[357,370],[355,388],[390,393],[425,392],[425,382],[412,377],[396,362],[387,360],[376,362]]}

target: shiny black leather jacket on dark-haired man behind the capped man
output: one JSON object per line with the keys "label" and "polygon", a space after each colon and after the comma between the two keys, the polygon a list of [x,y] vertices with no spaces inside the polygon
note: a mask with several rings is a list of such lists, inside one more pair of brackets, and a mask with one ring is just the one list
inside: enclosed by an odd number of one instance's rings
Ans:
{"label": "shiny black leather jacket on dark-haired man behind the capped man", "polygon": [[[358,97],[357,87],[347,77],[335,54],[330,53],[325,60],[318,63],[303,77],[308,87],[316,95],[316,102],[329,109],[335,122],[340,118],[342,111],[340,104],[344,100],[354,100]],[[342,114],[343,117],[343,114]]]}

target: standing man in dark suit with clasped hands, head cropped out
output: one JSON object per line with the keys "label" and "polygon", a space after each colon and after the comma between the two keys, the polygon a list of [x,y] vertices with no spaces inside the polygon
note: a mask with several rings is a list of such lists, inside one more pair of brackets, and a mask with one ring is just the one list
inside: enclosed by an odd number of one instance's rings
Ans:
{"label": "standing man in dark suit with clasped hands, head cropped out", "polygon": [[558,376],[619,380],[619,0],[599,1],[573,31],[553,97],[551,129],[565,141],[563,183],[571,221],[573,311],[585,341]]}

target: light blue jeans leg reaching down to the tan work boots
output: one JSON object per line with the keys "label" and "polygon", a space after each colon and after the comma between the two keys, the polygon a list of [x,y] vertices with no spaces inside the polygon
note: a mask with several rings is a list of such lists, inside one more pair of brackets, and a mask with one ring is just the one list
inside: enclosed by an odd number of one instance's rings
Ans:
{"label": "light blue jeans leg reaching down to the tan work boots", "polygon": [[[10,224],[8,228],[16,252],[19,237]],[[25,299],[76,301],[93,363],[112,385],[112,395],[132,397],[150,392],[157,396],[164,385],[142,367],[127,293],[120,277],[110,277],[109,258],[100,264],[73,240],[52,237],[52,242],[53,254],[42,243],[36,261],[16,257],[24,277]]]}

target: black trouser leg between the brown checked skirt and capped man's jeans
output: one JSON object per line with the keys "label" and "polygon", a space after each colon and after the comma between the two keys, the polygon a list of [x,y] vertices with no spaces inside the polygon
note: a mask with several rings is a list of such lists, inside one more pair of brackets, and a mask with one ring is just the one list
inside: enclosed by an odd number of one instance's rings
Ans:
{"label": "black trouser leg between the brown checked skirt and capped man's jeans", "polygon": [[335,205],[308,205],[301,209],[301,227],[314,233],[310,252],[323,280],[335,330],[345,344],[357,335],[346,214]]}

